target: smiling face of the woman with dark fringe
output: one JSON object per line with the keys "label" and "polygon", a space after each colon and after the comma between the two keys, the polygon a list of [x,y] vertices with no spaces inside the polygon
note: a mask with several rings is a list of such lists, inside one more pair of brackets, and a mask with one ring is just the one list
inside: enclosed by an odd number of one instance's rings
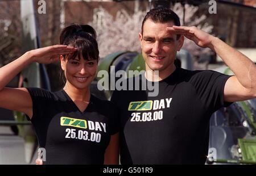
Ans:
{"label": "smiling face of the woman with dark fringe", "polygon": [[84,60],[78,56],[74,59],[61,57],[61,68],[64,70],[67,82],[77,89],[87,89],[97,73],[97,60]]}

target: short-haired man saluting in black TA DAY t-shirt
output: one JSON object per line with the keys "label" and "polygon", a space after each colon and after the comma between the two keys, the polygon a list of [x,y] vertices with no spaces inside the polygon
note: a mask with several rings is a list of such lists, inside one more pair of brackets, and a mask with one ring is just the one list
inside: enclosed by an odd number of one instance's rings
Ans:
{"label": "short-haired man saluting in black TA DAY t-shirt", "polygon": [[[216,52],[235,76],[177,68],[174,60],[184,36]],[[146,72],[137,78],[142,85],[144,78],[159,83],[159,94],[114,91],[112,101],[121,120],[121,164],[204,164],[212,113],[231,102],[256,98],[254,63],[217,37],[180,26],[170,9],[150,10],[139,39]],[[152,79],[156,71],[159,77]]]}

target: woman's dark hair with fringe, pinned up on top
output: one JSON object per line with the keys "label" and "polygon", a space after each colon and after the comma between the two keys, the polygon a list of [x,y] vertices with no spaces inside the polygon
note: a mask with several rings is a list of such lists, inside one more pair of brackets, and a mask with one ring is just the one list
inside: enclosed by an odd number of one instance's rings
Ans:
{"label": "woman's dark hair with fringe, pinned up on top", "polygon": [[60,44],[76,47],[77,51],[71,55],[63,55],[64,58],[73,59],[81,56],[84,60],[99,60],[96,31],[88,24],[71,24],[65,27],[60,34]]}

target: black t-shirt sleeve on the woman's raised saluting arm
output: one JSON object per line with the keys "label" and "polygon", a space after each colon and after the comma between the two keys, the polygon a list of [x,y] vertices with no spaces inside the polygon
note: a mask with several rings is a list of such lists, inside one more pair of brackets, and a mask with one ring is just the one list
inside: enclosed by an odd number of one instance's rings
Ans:
{"label": "black t-shirt sleeve on the woman's raised saluting arm", "polygon": [[[47,90],[40,88],[26,88],[30,93],[32,99],[32,118],[31,122],[40,121],[49,106],[49,99],[51,99],[51,93]],[[27,116],[27,119],[28,116]]]}

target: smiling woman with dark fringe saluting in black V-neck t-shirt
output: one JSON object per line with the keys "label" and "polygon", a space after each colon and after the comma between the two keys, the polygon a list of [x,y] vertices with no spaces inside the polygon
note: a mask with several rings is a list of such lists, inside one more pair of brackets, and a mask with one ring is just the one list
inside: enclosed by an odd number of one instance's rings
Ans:
{"label": "smiling woman with dark fringe saluting in black V-neck t-shirt", "polygon": [[[0,68],[0,107],[24,112],[34,125],[43,164],[118,164],[118,120],[114,105],[90,94],[98,45],[89,25],[64,28],[60,44],[34,49]],[[59,60],[67,79],[60,91],[7,88],[31,62]],[[105,155],[105,157],[104,157]]]}

